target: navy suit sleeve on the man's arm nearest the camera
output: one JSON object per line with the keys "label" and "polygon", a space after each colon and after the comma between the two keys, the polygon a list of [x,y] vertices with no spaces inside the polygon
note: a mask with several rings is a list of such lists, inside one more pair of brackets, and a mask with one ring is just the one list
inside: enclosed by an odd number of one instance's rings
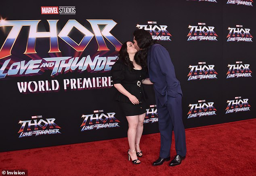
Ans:
{"label": "navy suit sleeve on the man's arm nearest the camera", "polygon": [[155,58],[155,62],[159,65],[162,74],[166,77],[168,95],[176,97],[177,88],[180,83],[176,79],[174,66],[172,64],[169,52],[166,50],[166,48],[160,45],[154,48],[152,54]]}

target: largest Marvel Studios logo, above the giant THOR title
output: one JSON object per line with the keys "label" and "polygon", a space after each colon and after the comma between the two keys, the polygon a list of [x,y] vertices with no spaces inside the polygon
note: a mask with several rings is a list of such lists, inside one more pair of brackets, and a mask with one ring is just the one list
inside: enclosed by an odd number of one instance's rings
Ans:
{"label": "largest Marvel Studios logo, above the giant THOR title", "polygon": [[75,6],[41,6],[41,14],[60,14],[74,15],[76,14]]}

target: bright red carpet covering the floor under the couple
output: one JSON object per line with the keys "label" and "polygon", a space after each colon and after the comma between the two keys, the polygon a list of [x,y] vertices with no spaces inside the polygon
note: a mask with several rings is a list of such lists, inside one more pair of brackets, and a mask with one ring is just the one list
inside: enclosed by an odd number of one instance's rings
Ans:
{"label": "bright red carpet covering the floor under the couple", "polygon": [[[0,170],[27,169],[28,175],[255,176],[256,119],[186,130],[182,164],[151,166],[158,158],[158,134],[142,136],[141,164],[127,160],[127,138],[0,153]],[[171,157],[174,157],[174,141]]]}

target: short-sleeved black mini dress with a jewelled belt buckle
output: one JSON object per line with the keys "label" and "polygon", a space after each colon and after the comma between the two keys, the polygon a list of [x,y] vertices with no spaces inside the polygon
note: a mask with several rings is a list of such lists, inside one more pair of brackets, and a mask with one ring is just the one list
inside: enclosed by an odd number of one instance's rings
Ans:
{"label": "short-sleeved black mini dress with a jewelled belt buckle", "polygon": [[115,62],[111,69],[113,84],[122,84],[122,86],[130,92],[130,94],[136,96],[137,104],[132,104],[127,96],[117,90],[115,100],[120,102],[122,110],[126,116],[140,115],[146,112],[147,104],[145,98],[147,97],[143,89],[141,80],[148,78],[147,69],[141,70],[128,69],[121,61]]}

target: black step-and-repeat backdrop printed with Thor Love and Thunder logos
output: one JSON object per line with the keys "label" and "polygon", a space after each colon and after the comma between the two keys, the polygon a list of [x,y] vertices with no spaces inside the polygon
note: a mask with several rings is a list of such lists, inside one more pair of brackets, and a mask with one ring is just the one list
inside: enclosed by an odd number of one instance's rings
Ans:
{"label": "black step-and-repeat backdrop printed with Thor Love and Thunder logos", "polygon": [[[185,128],[255,118],[253,0],[4,1],[0,151],[127,136],[110,74],[135,29],[170,53]],[[143,134],[158,131],[153,86]],[[218,132],[216,132],[218,134]]]}

